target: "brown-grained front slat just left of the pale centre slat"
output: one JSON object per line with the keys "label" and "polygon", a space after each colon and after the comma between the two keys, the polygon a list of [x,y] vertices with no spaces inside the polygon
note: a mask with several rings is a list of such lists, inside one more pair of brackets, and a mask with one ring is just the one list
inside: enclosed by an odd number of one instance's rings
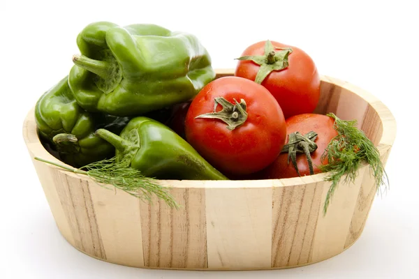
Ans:
{"label": "brown-grained front slat just left of the pale centre slat", "polygon": [[207,267],[205,190],[172,188],[180,209],[159,199],[140,204],[145,266]]}

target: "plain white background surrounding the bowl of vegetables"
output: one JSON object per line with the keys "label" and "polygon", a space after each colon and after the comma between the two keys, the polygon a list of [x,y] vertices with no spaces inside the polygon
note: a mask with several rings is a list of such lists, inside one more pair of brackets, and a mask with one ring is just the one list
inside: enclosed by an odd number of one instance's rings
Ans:
{"label": "plain white background surrounding the bowl of vegetables", "polygon": [[[0,278],[419,278],[418,8],[416,1],[0,1]],[[364,232],[325,262],[279,271],[134,269],[88,257],[59,234],[22,140],[29,109],[68,74],[90,22],[154,23],[196,34],[214,68],[277,40],[305,50],[323,75],[370,91],[397,120]],[[416,135],[415,135],[416,134]]]}

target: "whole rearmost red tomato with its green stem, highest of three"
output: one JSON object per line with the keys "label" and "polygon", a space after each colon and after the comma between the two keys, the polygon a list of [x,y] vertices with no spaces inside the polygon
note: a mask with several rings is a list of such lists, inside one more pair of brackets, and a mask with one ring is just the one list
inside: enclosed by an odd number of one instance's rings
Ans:
{"label": "whole rearmost red tomato with its green stem, highest of three", "polygon": [[235,75],[265,86],[286,119],[314,112],[320,98],[320,77],[307,53],[267,40],[247,47],[239,60]]}

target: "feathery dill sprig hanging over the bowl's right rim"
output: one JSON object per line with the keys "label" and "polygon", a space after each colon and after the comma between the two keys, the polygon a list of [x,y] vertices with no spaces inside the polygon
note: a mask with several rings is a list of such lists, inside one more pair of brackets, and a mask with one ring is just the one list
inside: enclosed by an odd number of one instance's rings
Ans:
{"label": "feathery dill sprig hanging over the bowl's right rim", "polygon": [[328,158],[328,164],[320,166],[321,172],[330,172],[325,177],[325,181],[332,182],[326,195],[324,214],[328,211],[330,199],[332,199],[341,177],[345,176],[344,183],[353,182],[360,165],[364,162],[369,164],[377,191],[380,186],[388,185],[388,176],[381,162],[380,153],[365,133],[356,127],[357,121],[344,121],[333,113],[327,115],[335,119],[334,128],[338,135],[330,141],[321,157],[322,161]]}

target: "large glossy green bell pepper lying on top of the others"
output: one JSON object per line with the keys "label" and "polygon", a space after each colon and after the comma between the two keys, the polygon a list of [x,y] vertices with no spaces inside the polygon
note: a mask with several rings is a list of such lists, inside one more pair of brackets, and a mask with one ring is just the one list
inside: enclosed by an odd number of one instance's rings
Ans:
{"label": "large glossy green bell pepper lying on top of the others", "polygon": [[193,99],[215,77],[196,36],[154,24],[94,22],[77,44],[68,82],[89,112],[143,115]]}

